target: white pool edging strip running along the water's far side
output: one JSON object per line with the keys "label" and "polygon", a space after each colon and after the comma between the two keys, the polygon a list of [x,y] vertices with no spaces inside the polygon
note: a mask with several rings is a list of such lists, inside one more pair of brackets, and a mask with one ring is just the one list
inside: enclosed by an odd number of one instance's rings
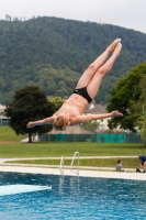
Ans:
{"label": "white pool edging strip running along the water's far side", "polygon": [[[59,168],[48,167],[26,167],[26,166],[0,166],[0,172],[12,173],[27,173],[27,174],[45,174],[45,175],[60,175]],[[70,169],[64,169],[65,176],[77,176]],[[98,177],[98,178],[120,178],[120,179],[134,179],[146,180],[145,173],[130,173],[130,172],[101,172],[101,170],[79,170],[79,176],[82,177]]]}

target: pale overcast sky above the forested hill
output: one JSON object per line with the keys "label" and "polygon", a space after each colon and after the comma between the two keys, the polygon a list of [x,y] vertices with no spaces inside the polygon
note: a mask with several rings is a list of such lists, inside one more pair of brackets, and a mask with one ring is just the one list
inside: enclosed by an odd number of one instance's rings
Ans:
{"label": "pale overcast sky above the forested hill", "polygon": [[146,0],[0,0],[0,20],[56,16],[146,33]]}

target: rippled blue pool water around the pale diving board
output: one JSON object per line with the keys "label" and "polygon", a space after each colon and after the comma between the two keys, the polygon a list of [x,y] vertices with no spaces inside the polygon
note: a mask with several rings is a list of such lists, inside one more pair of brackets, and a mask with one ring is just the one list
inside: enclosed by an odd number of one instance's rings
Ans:
{"label": "rippled blue pool water around the pale diving board", "polygon": [[0,186],[52,186],[0,196],[0,220],[146,219],[146,182],[0,173]]}

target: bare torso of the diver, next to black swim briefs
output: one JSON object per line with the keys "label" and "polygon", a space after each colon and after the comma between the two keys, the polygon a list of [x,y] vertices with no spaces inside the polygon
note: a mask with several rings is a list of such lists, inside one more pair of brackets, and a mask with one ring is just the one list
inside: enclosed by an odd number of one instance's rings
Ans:
{"label": "bare torso of the diver, next to black swim briefs", "polygon": [[54,114],[57,117],[60,112],[68,112],[70,124],[78,123],[77,117],[83,113],[85,108],[88,106],[88,101],[80,95],[72,94],[65,102],[61,108]]}

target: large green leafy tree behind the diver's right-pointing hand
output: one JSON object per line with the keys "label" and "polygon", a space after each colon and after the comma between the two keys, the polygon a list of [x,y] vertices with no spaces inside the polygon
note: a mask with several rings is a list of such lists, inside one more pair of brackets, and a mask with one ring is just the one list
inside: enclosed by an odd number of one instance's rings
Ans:
{"label": "large green leafy tree behind the diver's right-pointing hand", "polygon": [[110,120],[110,129],[121,125],[123,129],[135,131],[137,119],[141,117],[139,109],[142,109],[144,97],[146,97],[144,88],[146,88],[146,62],[133,68],[112,88],[106,109],[109,112],[119,109],[124,118]]}

